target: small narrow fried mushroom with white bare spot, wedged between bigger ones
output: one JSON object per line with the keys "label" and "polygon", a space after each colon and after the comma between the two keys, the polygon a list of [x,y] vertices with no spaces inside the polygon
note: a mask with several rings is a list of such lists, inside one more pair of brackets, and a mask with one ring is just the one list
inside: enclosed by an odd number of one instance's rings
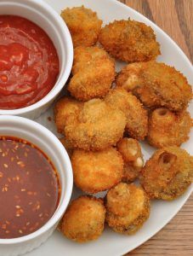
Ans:
{"label": "small narrow fried mushroom with white bare spot, wedged between bigger ones", "polygon": [[140,144],[133,138],[124,137],[116,144],[116,148],[124,160],[122,181],[133,182],[139,177],[144,165]]}

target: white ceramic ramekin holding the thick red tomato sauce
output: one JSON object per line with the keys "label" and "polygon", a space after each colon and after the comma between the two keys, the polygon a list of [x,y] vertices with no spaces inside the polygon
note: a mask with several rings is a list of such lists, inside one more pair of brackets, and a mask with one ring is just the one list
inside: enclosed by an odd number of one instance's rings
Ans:
{"label": "white ceramic ramekin holding the thick red tomato sauce", "polygon": [[60,58],[60,75],[54,88],[43,99],[29,107],[14,110],[1,110],[0,114],[20,115],[36,119],[46,111],[71,73],[73,46],[71,34],[64,20],[43,0],[1,0],[0,15],[19,15],[41,26],[52,39]]}

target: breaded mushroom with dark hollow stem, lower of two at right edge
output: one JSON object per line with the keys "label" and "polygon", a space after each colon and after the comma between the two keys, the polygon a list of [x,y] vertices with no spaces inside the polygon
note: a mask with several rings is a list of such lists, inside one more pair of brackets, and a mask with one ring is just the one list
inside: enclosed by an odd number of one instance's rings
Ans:
{"label": "breaded mushroom with dark hollow stem, lower of two at right edge", "polygon": [[173,200],[193,180],[193,157],[176,146],[158,149],[146,162],[140,180],[150,198]]}

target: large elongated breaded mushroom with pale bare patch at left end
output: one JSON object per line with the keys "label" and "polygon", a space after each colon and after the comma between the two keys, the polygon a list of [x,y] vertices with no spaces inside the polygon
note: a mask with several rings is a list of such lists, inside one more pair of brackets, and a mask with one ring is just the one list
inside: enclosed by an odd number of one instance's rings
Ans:
{"label": "large elongated breaded mushroom with pale bare patch at left end", "polygon": [[122,68],[116,85],[132,91],[148,108],[180,111],[192,97],[190,84],[174,67],[156,61],[133,63]]}

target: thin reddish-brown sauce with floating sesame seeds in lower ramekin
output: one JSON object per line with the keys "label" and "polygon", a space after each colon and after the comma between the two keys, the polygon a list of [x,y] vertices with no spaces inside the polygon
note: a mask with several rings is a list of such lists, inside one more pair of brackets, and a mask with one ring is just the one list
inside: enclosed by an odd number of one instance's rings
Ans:
{"label": "thin reddish-brown sauce with floating sesame seeds in lower ramekin", "polygon": [[19,138],[0,137],[0,239],[41,228],[59,198],[57,172],[46,155]]}

